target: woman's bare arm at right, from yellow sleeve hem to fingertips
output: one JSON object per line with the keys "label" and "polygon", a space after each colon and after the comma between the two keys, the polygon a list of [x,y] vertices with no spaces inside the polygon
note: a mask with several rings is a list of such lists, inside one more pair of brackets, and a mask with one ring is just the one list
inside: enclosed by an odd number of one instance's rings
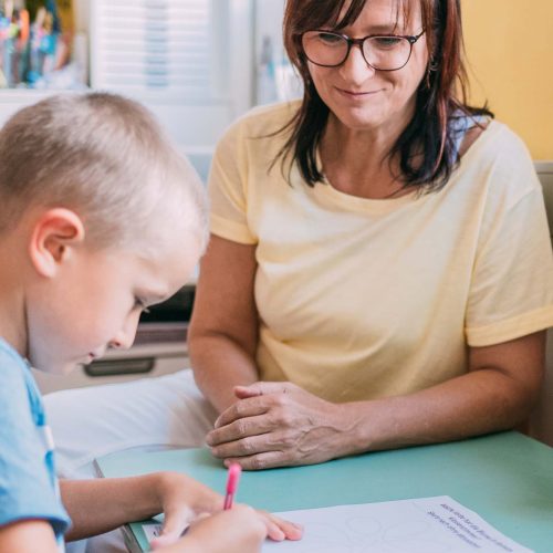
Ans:
{"label": "woman's bare arm at right, from yellow sleeve hem to fingertips", "polygon": [[237,388],[243,399],[206,440],[216,457],[258,470],[512,428],[540,390],[544,341],[540,332],[471,348],[467,374],[397,397],[338,404],[293,383],[257,382]]}

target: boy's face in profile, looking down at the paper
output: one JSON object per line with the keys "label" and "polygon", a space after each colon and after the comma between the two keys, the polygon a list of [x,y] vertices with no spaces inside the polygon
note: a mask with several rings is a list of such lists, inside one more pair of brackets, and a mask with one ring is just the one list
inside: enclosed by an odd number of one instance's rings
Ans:
{"label": "boy's face in profile, looking down at the paper", "polygon": [[[32,366],[67,373],[129,347],[145,306],[173,295],[190,276],[200,243],[189,230],[146,244],[148,259],[125,249],[74,250],[59,276],[28,301],[28,357]],[[144,254],[146,255],[146,254]]]}

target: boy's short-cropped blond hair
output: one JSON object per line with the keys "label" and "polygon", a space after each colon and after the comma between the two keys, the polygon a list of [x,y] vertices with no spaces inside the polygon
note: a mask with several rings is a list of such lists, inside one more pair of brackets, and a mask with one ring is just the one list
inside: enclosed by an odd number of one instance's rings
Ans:
{"label": "boy's short-cropped blond hair", "polygon": [[6,123],[0,233],[32,206],[74,210],[98,248],[138,242],[147,228],[174,225],[160,220],[169,212],[188,218],[207,242],[207,200],[196,171],[145,107],[115,94],[51,96]]}

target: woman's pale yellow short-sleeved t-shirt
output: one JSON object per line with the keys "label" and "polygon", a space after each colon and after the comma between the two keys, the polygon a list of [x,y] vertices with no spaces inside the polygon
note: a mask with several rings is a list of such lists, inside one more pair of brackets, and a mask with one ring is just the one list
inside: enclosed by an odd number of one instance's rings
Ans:
{"label": "woman's pale yellow short-sleeved t-shirt", "polygon": [[211,231],[255,244],[260,379],[333,401],[409,394],[467,372],[468,345],[553,325],[553,254],[521,140],[491,122],[438,192],[365,199],[269,169],[298,103],[218,145]]}

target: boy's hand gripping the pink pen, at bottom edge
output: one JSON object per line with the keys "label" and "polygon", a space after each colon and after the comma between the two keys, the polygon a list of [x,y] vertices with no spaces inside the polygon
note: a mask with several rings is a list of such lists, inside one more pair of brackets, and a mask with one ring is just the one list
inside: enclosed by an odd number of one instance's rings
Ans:
{"label": "boy's hand gripping the pink pen, at bottom edge", "polygon": [[269,513],[254,511],[247,505],[234,505],[228,511],[202,514],[192,522],[186,536],[173,545],[160,536],[152,542],[152,547],[164,553],[186,551],[209,553],[253,553],[261,549],[265,538],[281,541],[285,538],[299,540],[303,531]]}

